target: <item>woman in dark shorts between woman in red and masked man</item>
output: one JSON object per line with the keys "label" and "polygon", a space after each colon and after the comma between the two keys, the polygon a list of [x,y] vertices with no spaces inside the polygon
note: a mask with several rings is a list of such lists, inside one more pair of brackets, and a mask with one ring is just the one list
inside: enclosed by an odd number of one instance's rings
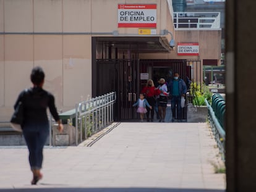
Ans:
{"label": "woman in dark shorts between woman in red and masked man", "polygon": [[160,90],[160,96],[158,98],[158,113],[160,116],[159,122],[164,122],[165,115],[166,115],[166,107],[168,102],[168,88],[165,84],[164,78],[160,79],[160,85],[158,86]]}

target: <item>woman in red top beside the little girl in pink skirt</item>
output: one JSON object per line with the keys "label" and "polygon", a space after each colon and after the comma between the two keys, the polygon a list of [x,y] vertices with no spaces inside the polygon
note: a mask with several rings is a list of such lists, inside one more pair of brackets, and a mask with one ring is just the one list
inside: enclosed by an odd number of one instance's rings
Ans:
{"label": "woman in red top beside the little girl in pink skirt", "polygon": [[[155,108],[155,96],[160,94],[160,91],[155,88],[153,80],[148,80],[147,85],[143,88],[142,93],[145,94],[145,98],[150,104],[150,107],[147,107],[147,122],[154,121],[154,108]],[[151,114],[151,119],[149,118]]]}

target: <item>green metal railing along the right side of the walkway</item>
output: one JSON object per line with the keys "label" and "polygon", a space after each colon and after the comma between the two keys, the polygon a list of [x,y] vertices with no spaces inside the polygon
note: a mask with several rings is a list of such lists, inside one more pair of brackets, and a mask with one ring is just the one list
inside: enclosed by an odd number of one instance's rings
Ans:
{"label": "green metal railing along the right side of the walkway", "polygon": [[207,99],[205,102],[208,107],[208,120],[210,122],[211,130],[215,136],[215,140],[220,149],[221,157],[225,159],[225,139],[226,132],[224,130],[224,117],[226,111],[226,102],[220,94],[214,94],[212,97],[212,104],[210,105]]}

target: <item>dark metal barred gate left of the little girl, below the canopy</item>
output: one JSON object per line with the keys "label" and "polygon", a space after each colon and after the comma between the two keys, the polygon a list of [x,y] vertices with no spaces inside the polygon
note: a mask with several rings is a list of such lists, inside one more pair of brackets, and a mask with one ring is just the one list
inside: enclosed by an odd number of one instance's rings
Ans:
{"label": "dark metal barred gate left of the little girl, below the canopy", "polygon": [[116,120],[135,120],[137,113],[132,105],[139,97],[139,60],[116,59],[96,61],[97,93],[116,91]]}

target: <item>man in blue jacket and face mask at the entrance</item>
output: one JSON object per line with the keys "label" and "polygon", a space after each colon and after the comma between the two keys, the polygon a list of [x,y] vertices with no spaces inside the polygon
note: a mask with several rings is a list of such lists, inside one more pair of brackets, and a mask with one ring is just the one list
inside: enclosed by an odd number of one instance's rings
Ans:
{"label": "man in blue jacket and face mask at the entrance", "polygon": [[174,122],[177,106],[177,119],[178,122],[181,122],[181,97],[186,96],[187,86],[185,81],[179,78],[179,73],[174,73],[173,80],[169,83],[169,90],[171,95],[171,110],[173,112],[173,119],[171,121]]}

